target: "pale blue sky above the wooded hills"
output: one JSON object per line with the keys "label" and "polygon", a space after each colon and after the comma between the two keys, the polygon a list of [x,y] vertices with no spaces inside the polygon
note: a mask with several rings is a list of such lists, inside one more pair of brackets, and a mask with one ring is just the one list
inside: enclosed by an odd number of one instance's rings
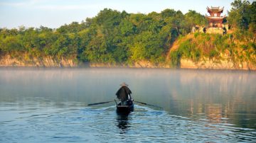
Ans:
{"label": "pale blue sky above the wooded hills", "polygon": [[[225,7],[223,15],[231,9],[234,0],[0,0],[0,28],[59,28],[73,21],[85,21],[97,16],[104,8],[127,13],[160,13],[166,8],[182,11],[194,10],[202,15],[207,6]],[[254,0],[250,0],[252,3]]]}

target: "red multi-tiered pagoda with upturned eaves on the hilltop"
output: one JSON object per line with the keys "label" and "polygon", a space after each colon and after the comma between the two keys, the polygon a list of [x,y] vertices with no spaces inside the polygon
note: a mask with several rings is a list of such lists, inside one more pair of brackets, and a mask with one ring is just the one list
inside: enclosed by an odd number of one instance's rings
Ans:
{"label": "red multi-tiered pagoda with upturned eaves on the hilltop", "polygon": [[[224,8],[224,7],[223,7]],[[207,11],[210,13],[210,16],[206,15],[206,18],[208,19],[209,28],[222,28],[223,27],[223,19],[226,16],[220,16],[221,13],[223,13],[223,8],[213,7],[210,6],[210,8],[207,6]]]}

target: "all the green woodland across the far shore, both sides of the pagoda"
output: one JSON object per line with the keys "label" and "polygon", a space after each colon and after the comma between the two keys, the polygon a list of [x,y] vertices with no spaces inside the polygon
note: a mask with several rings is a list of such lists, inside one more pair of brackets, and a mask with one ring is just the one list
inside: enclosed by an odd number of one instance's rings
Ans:
{"label": "all the green woodland across the far shore, both sides of the pagoda", "polygon": [[[181,39],[191,33],[194,25],[208,25],[206,18],[196,11],[183,14],[165,9],[161,13],[135,14],[105,8],[93,18],[56,29],[43,26],[1,28],[0,59],[9,55],[28,61],[51,57],[56,60],[72,59],[78,63],[133,64],[149,61],[160,64],[165,63],[169,55],[171,66],[178,67],[181,57],[197,61],[201,57],[218,57],[227,49],[232,55],[235,53],[233,47],[238,46],[242,46],[250,58],[250,55],[256,55],[256,2],[250,4],[249,1],[235,0],[231,6],[233,8],[226,20],[232,33],[224,36],[195,33],[194,39],[186,40]],[[169,54],[176,40],[181,40],[180,46]]]}

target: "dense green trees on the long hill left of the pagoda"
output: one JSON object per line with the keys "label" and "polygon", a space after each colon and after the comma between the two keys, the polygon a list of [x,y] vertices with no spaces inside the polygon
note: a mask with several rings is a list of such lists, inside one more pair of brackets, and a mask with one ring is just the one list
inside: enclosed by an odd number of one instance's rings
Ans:
{"label": "dense green trees on the long hill left of the pagoda", "polygon": [[[145,60],[158,64],[164,62],[164,55],[176,38],[189,33],[191,25],[202,24],[203,18],[196,11],[183,15],[166,9],[145,15],[105,8],[94,18],[55,30],[43,26],[0,29],[0,54],[103,63]],[[200,53],[193,56],[200,57]]]}

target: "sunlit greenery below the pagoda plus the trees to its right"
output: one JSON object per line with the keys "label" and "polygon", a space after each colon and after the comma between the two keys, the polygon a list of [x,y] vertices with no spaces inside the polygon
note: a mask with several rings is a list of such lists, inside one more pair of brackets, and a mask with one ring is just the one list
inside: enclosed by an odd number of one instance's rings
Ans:
{"label": "sunlit greenery below the pagoda plus the trees to its right", "polygon": [[255,67],[256,2],[234,1],[231,5],[233,8],[228,17],[230,32],[225,35],[194,33],[180,37],[178,48],[169,53],[172,67],[181,67],[181,59],[195,64],[209,60],[213,64],[227,61],[233,63],[234,69],[240,69],[244,62],[249,69]]}

